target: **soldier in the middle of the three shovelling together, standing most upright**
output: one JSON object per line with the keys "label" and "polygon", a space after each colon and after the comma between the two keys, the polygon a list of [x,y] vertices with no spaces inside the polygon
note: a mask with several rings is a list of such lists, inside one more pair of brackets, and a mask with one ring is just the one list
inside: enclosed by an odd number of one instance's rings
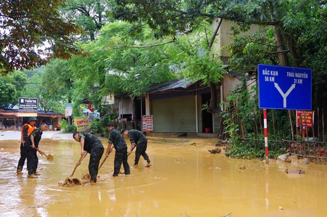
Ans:
{"label": "soldier in the middle of the three shovelling together, standing most upright", "polygon": [[109,131],[109,141],[108,148],[106,151],[106,157],[111,152],[111,145],[113,144],[116,152],[114,155],[114,167],[112,176],[118,176],[121,169],[122,163],[125,171],[125,175],[129,175],[131,172],[129,170],[129,165],[127,162],[127,145],[122,137],[121,133],[114,129],[114,124],[109,122],[107,124],[107,130]]}

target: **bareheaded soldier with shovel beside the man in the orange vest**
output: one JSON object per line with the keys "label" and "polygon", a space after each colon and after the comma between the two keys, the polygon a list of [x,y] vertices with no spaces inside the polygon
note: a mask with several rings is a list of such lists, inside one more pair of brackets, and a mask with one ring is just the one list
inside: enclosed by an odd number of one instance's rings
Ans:
{"label": "bareheaded soldier with shovel beside the man in the orange vest", "polygon": [[[31,132],[31,134],[28,137],[26,149],[27,149],[27,168],[29,171],[29,178],[38,178],[39,173],[36,172],[37,165],[39,162],[39,159],[36,154],[36,149],[39,146],[39,142],[42,137],[42,133],[44,130],[48,129],[48,125],[46,123],[42,123],[39,128],[36,128]],[[40,152],[42,152],[39,149]]]}

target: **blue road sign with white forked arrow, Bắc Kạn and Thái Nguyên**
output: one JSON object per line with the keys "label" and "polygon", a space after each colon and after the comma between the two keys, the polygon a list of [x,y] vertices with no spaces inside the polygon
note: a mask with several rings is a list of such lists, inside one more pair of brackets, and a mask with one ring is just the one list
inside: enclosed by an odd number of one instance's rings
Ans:
{"label": "blue road sign with white forked arrow, B\u1eafc K\u1ea1n and Th\u00e1i Nguy\u00ean", "polygon": [[259,64],[259,107],[311,110],[311,78],[311,69]]}

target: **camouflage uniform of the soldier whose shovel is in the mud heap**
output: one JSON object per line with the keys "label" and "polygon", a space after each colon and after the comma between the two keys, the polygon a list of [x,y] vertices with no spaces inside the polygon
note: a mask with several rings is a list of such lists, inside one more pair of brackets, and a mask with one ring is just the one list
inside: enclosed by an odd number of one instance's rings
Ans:
{"label": "camouflage uniform of the soldier whose shovel is in the mud heap", "polygon": [[81,132],[79,139],[84,138],[84,150],[90,154],[90,161],[88,163],[88,172],[91,175],[91,181],[97,182],[97,175],[99,171],[99,162],[104,152],[104,147],[101,141],[88,132]]}

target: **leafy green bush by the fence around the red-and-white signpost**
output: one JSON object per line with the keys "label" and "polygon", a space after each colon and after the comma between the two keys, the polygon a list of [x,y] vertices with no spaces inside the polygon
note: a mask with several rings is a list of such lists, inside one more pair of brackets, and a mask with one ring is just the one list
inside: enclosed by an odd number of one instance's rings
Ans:
{"label": "leafy green bush by the fence around the red-and-white signpost", "polygon": [[[254,141],[263,140],[264,133],[262,110],[258,105],[258,87],[252,86],[248,91],[245,86],[237,86],[227,97],[228,104],[223,114],[225,118],[225,131],[230,138],[226,155],[234,158],[253,159],[265,157],[264,142]],[[276,158],[284,154],[286,148],[283,140],[291,140],[289,132],[289,119],[287,111],[269,111],[267,119],[272,121],[272,112],[274,112],[275,128],[273,124],[268,125],[269,140],[281,141],[270,142],[269,158]],[[250,139],[250,140],[247,140]]]}

